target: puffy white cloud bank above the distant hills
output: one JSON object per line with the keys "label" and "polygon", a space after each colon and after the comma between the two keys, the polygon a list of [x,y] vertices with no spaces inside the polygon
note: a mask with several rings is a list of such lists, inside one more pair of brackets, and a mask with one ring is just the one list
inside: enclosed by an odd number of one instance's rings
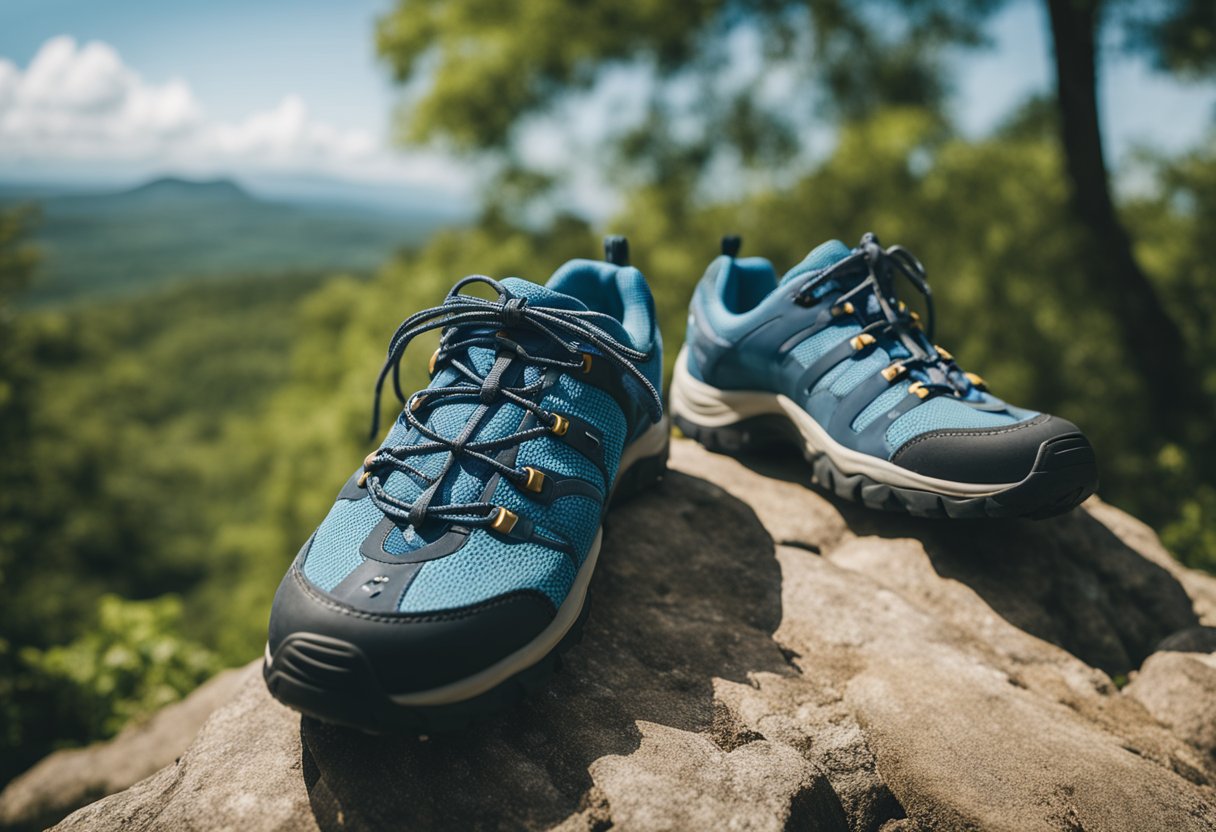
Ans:
{"label": "puffy white cloud bank above the distant hills", "polygon": [[467,186],[454,163],[394,154],[368,130],[316,120],[295,94],[235,123],[209,118],[184,79],[148,83],[108,44],[67,35],[47,40],[24,71],[0,58],[0,165],[28,162]]}

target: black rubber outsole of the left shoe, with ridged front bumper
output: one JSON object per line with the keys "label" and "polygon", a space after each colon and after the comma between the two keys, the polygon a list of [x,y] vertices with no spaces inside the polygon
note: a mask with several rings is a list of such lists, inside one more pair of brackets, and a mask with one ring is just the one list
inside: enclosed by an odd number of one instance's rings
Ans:
{"label": "black rubber outsole of the left shoe, with ridged front bumper", "polygon": [[[668,446],[659,455],[635,462],[618,479],[612,505],[657,483],[666,466]],[[271,696],[325,723],[367,733],[455,731],[510,708],[544,687],[561,669],[562,656],[582,640],[590,607],[589,590],[574,624],[548,653],[495,687],[460,702],[435,705],[394,702],[356,645],[314,633],[297,633],[285,639],[274,656],[266,656],[261,673]]]}

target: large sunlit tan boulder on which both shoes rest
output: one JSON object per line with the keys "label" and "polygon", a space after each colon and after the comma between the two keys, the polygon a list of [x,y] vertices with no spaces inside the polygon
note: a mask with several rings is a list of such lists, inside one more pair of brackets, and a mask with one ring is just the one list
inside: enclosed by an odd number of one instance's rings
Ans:
{"label": "large sunlit tan boulder on which both shoes rest", "polygon": [[373,737],[250,674],[175,764],[60,828],[1216,830],[1216,692],[1170,657],[1211,660],[1158,651],[1216,625],[1216,580],[1097,501],[919,521],[806,478],[677,443],[524,704]]}

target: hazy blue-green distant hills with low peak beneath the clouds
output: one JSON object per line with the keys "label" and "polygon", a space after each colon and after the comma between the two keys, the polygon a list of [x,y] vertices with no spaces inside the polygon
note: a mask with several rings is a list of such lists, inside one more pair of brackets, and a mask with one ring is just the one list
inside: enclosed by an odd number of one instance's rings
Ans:
{"label": "hazy blue-green distant hills with low peak beneath the clouds", "polygon": [[[407,195],[406,195],[407,196]],[[33,304],[130,294],[167,281],[292,271],[367,272],[454,225],[450,206],[265,199],[230,178],[159,176],[122,190],[0,184],[0,208],[40,206]]]}

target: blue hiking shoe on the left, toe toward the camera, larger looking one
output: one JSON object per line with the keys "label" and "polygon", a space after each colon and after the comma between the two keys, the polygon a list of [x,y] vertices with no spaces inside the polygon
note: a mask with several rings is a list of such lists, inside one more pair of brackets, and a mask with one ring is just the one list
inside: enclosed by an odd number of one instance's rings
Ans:
{"label": "blue hiking shoe on the left, toe toward the camera, larger looking one", "polygon": [[654,302],[624,240],[606,247],[612,262],[572,260],[546,286],[466,277],[393,336],[377,400],[441,328],[432,381],[398,389],[400,417],[275,595],[277,699],[373,732],[458,727],[578,640],[604,511],[663,474],[669,444]]}

